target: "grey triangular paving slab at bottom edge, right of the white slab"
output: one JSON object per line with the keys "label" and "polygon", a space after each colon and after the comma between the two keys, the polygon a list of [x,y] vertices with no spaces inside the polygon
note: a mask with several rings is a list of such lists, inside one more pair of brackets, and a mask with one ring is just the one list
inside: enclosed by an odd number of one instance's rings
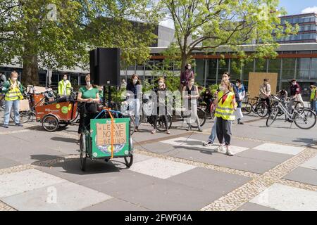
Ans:
{"label": "grey triangular paving slab at bottom edge, right of the white slab", "polygon": [[118,198],[111,198],[102,203],[87,207],[82,211],[149,211],[144,207],[128,203]]}

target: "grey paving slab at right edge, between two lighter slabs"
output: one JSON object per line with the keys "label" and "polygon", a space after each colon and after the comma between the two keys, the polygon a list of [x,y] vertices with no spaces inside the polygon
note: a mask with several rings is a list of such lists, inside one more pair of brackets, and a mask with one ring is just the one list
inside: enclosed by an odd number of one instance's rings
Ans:
{"label": "grey paving slab at right edge, between two lighter slabs", "polygon": [[297,167],[290,174],[284,176],[285,179],[291,181],[298,181],[305,184],[312,184],[317,186],[317,170],[307,169],[304,167]]}

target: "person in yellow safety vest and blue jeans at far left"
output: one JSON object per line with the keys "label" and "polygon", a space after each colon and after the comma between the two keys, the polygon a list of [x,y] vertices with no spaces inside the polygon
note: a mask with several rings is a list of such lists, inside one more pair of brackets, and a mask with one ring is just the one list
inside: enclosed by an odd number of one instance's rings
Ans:
{"label": "person in yellow safety vest and blue jeans at far left", "polygon": [[11,108],[13,107],[15,126],[23,127],[20,124],[20,100],[23,99],[23,85],[18,81],[18,72],[11,72],[11,78],[4,83],[2,87],[4,92],[5,110],[4,110],[4,128],[8,128]]}

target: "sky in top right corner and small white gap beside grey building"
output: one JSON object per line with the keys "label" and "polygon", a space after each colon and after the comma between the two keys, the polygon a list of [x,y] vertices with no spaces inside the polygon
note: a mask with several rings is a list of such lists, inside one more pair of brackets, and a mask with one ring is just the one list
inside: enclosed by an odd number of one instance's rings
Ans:
{"label": "sky in top right corner and small white gap beside grey building", "polygon": [[[288,15],[317,13],[317,0],[280,0],[280,7],[285,8]],[[174,27],[172,20],[164,20],[160,25],[170,28]]]}

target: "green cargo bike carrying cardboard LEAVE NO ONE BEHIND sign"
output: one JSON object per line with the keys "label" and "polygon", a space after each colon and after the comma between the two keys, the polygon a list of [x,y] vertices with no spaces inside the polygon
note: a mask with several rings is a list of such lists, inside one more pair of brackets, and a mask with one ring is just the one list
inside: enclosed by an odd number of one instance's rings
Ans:
{"label": "green cargo bike carrying cardboard LEAVE NO ONE BEHIND sign", "polygon": [[124,158],[126,167],[133,163],[130,117],[109,108],[100,113],[85,113],[85,127],[80,134],[80,168],[89,160]]}

